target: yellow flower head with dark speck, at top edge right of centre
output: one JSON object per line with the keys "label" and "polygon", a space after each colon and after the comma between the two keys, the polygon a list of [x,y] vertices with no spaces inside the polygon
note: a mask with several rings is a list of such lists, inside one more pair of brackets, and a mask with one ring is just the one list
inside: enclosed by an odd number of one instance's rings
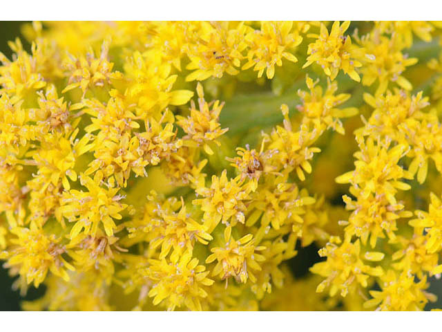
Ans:
{"label": "yellow flower head with dark speck, at top edge right of centre", "polygon": [[361,78],[356,69],[361,67],[361,62],[358,61],[360,50],[352,45],[352,39],[345,36],[344,33],[350,25],[349,21],[339,24],[339,21],[334,22],[330,33],[324,24],[320,25],[320,34],[309,34],[307,37],[316,38],[316,42],[309,44],[307,50],[307,62],[302,66],[306,68],[313,63],[319,64],[325,75],[334,80],[340,70],[352,77],[352,80],[360,82]]}

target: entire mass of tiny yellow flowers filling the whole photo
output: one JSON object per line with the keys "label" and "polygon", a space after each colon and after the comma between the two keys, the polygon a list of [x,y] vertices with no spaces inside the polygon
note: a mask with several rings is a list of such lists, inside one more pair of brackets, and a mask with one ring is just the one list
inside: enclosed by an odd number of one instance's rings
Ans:
{"label": "entire mass of tiny yellow flowers filling the whole photo", "polygon": [[0,53],[0,259],[46,285],[23,308],[423,310],[441,27],[25,24]]}

